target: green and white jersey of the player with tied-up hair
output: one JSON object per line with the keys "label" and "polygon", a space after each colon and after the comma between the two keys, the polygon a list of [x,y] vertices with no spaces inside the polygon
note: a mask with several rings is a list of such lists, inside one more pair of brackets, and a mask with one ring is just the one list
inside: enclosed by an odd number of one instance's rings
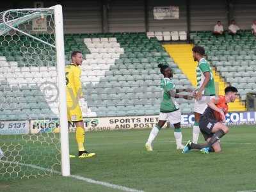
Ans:
{"label": "green and white jersey of the player with tied-up hair", "polygon": [[161,79],[161,88],[164,90],[163,100],[160,105],[160,112],[170,113],[177,111],[179,109],[179,104],[177,104],[174,97],[171,97],[170,90],[175,90],[175,84],[172,83],[171,79],[164,78]]}

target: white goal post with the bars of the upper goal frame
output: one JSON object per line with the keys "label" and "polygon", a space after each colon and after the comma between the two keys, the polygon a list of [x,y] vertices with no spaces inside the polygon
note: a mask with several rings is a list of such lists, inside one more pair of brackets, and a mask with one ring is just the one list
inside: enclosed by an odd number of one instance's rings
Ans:
{"label": "white goal post with the bars of the upper goal frame", "polygon": [[[15,13],[15,17],[12,17],[12,13]],[[45,14],[51,14],[53,15],[52,17],[54,17],[54,19],[51,20],[51,22],[54,23],[54,29],[52,29],[52,33],[54,33],[55,42],[53,43],[44,41],[42,38],[38,38],[38,36],[33,35],[33,32],[28,33],[28,31],[22,30],[22,28],[17,27],[20,24],[23,24],[24,22],[28,22],[28,20],[29,22],[31,22],[31,20],[33,19],[38,19],[40,17],[43,18]],[[0,19],[0,36],[3,36],[6,33],[10,33],[10,31],[14,31],[14,33],[20,34],[20,36],[29,36],[29,38],[32,38],[33,40],[35,40],[35,42],[38,42],[38,44],[45,44],[47,46],[52,47],[52,49],[55,49],[57,72],[56,80],[58,87],[58,118],[60,119],[61,173],[63,176],[69,176],[70,160],[68,144],[67,101],[65,83],[65,50],[62,6],[58,4],[50,8],[28,8],[7,10],[6,12],[3,12],[3,14],[0,16],[3,16]]]}

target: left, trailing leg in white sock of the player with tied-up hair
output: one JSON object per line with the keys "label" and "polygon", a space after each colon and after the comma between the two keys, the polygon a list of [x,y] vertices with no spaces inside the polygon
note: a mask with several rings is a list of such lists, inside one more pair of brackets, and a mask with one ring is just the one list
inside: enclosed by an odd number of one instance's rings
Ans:
{"label": "left, trailing leg in white sock of the player with tied-up hair", "polygon": [[167,113],[160,113],[159,114],[159,120],[158,120],[157,124],[154,125],[154,127],[151,129],[150,134],[148,136],[147,143],[145,144],[145,147],[148,151],[153,150],[152,142],[155,140],[158,132],[160,131],[160,129],[165,124],[166,118],[167,118],[166,116],[167,116]]}

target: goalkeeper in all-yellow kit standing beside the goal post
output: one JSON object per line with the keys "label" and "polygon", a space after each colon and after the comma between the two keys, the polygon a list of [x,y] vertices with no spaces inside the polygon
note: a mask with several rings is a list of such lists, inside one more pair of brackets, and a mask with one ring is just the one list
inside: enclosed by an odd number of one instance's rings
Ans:
{"label": "goalkeeper in all-yellow kit standing beside the goal post", "polygon": [[[76,141],[78,145],[78,157],[87,158],[95,156],[95,153],[87,152],[84,149],[84,122],[82,111],[86,112],[87,106],[83,98],[81,68],[83,62],[81,51],[74,51],[71,54],[72,63],[65,68],[66,72],[66,91],[67,91],[67,111],[68,122],[76,124]],[[74,156],[70,156],[74,157]]]}

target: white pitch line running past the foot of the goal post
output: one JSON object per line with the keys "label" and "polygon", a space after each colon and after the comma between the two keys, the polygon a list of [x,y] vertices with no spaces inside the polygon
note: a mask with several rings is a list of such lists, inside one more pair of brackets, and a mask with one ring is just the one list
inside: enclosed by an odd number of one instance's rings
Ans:
{"label": "white pitch line running past the foot of the goal post", "polygon": [[[40,166],[36,166],[35,164],[25,164],[25,163],[19,163],[19,162],[15,162],[15,161],[3,161],[3,160],[0,160],[0,162],[19,164],[21,166],[29,166],[31,168],[35,168],[35,169],[38,169],[38,170],[42,170],[42,171],[46,171],[46,172],[52,172],[52,173],[56,173],[58,175],[61,175],[61,172],[58,172],[58,171],[55,171],[55,170],[51,170],[51,169],[47,169],[47,168],[43,168],[43,167],[40,167]],[[105,187],[112,188],[112,189],[119,189],[121,191],[144,192],[142,190],[127,188],[125,186],[119,186],[119,185],[116,185],[116,184],[111,184],[109,182],[103,182],[103,181],[100,181],[100,180],[94,180],[94,179],[90,179],[90,178],[83,177],[83,176],[80,176],[80,175],[70,175],[68,177],[72,177],[72,178],[77,179],[77,180],[83,180],[85,182],[89,182],[89,183],[92,183],[92,184],[98,184],[98,185],[105,186]]]}

